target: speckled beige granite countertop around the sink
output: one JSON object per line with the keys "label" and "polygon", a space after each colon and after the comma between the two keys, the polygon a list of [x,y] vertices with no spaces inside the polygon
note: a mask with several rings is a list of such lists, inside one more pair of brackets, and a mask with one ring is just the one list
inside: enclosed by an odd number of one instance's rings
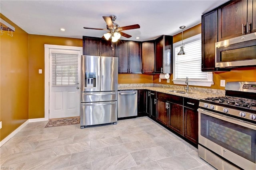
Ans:
{"label": "speckled beige granite countertop around the sink", "polygon": [[166,85],[166,84],[118,84],[118,90],[153,90],[156,92],[162,92],[166,94],[172,94],[176,96],[182,96],[192,99],[205,99],[210,97],[225,96],[225,90],[210,89],[210,88],[195,88],[189,87],[188,94],[180,94],[170,92],[170,90],[184,90],[184,86]]}

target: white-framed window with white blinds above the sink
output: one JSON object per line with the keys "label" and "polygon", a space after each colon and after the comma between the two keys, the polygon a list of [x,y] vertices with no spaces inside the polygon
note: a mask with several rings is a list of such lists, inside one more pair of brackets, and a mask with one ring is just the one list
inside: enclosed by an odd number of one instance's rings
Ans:
{"label": "white-framed window with white blinds above the sink", "polygon": [[202,41],[201,34],[183,40],[186,55],[177,55],[181,41],[174,43],[174,84],[185,84],[186,77],[190,85],[211,86],[212,72],[202,72]]}

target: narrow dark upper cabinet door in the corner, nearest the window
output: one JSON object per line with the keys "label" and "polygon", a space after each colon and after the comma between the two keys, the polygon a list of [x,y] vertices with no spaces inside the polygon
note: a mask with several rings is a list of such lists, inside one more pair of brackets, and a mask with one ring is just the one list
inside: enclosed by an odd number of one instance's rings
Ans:
{"label": "narrow dark upper cabinet door in the corner, nearest the window", "polygon": [[164,38],[163,36],[156,39],[155,51],[155,73],[163,71],[163,55],[164,55]]}

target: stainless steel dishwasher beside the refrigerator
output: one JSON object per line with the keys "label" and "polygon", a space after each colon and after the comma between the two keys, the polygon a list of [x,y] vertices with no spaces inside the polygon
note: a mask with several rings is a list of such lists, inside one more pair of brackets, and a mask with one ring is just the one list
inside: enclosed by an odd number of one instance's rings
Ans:
{"label": "stainless steel dishwasher beside the refrigerator", "polygon": [[118,92],[118,118],[137,116],[137,90]]}

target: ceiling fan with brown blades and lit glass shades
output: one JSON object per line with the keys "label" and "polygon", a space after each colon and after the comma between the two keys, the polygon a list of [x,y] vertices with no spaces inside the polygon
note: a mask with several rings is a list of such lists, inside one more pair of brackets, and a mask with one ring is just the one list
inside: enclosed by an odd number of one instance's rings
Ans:
{"label": "ceiling fan with brown blades and lit glass shades", "polygon": [[126,38],[132,37],[132,35],[126,34],[122,31],[128,30],[128,29],[140,28],[139,24],[119,27],[119,25],[117,23],[114,23],[114,21],[116,20],[116,16],[114,16],[114,15],[111,15],[109,17],[107,17],[107,16],[102,16],[102,17],[105,20],[105,22],[107,23],[106,28],[84,27],[84,29],[98,29],[98,30],[108,31],[107,33],[104,34],[104,37],[106,38],[106,40],[108,40],[110,37],[112,37],[112,42],[116,42],[121,36],[124,36]]}

